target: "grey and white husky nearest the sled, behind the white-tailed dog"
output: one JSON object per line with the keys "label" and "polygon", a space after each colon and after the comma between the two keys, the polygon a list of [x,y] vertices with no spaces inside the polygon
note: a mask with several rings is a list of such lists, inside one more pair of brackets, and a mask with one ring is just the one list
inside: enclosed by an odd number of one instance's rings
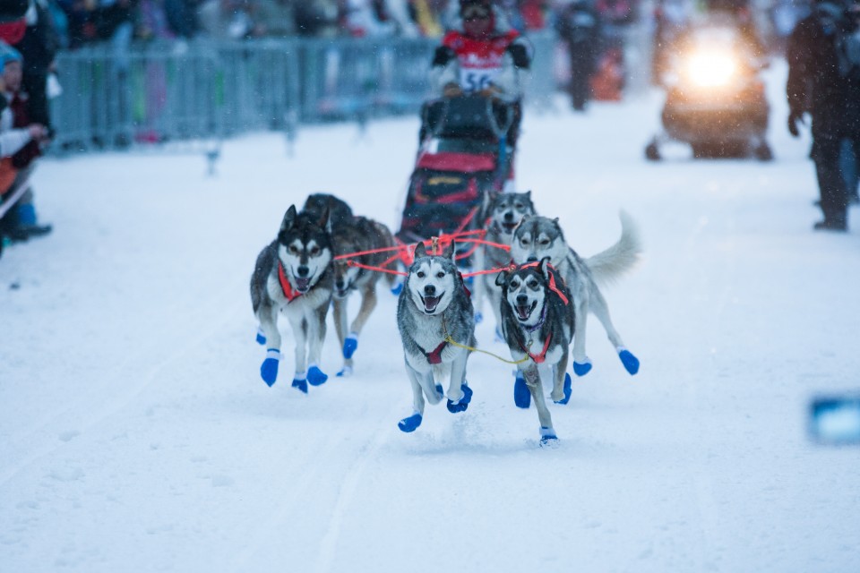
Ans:
{"label": "grey and white husky nearest the sled, behind the white-tailed dog", "polygon": [[[524,193],[495,193],[486,195],[487,205],[484,210],[487,220],[484,240],[490,243],[511,246],[513,231],[520,225],[523,218],[535,215],[535,205],[531,202],[531,192]],[[511,263],[511,252],[491,245],[481,245],[477,250],[478,269],[498,269]],[[484,295],[490,299],[490,306],[495,315],[495,325],[502,332],[502,289],[495,282],[493,275],[478,275],[475,289],[475,310],[480,315]],[[478,319],[480,321],[480,319]]]}

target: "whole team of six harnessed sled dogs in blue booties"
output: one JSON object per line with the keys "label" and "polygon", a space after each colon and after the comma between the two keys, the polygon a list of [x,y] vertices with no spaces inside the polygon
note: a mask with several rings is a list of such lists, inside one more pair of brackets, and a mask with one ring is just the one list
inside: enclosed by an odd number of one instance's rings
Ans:
{"label": "whole team of six harnessed sled dogs in blue booties", "polygon": [[[267,348],[262,380],[271,386],[278,376],[280,313],[296,340],[292,386],[306,393],[308,384],[318,386],[328,379],[319,363],[330,305],[344,358],[338,376],[352,373],[358,338],[384,277],[392,292],[400,292],[397,325],[412,385],[414,411],[398,426],[413,432],[423,419],[425,400],[437,404],[447,397],[452,413],[468,408],[472,390],[466,367],[477,348],[475,324],[480,320],[475,309],[486,297],[495,313],[497,336],[517,366],[514,401],[520,407],[534,401],[541,444],[554,443],[543,383],[552,381],[550,398],[556,403],[571,398],[566,372],[571,345],[573,372],[582,376],[591,369],[585,345],[589,312],[606,329],[627,372],[639,370],[598,287],[632,268],[641,252],[639,236],[622,211],[621,238],[605,251],[582,258],[565,242],[558,219],[538,216],[530,192],[490,194],[481,216],[486,243],[503,244],[510,251],[492,245],[478,249],[476,266],[499,270],[478,275],[472,297],[455,262],[453,243],[437,248],[434,242],[429,250],[418,243],[399,284],[394,274],[374,270],[397,265],[394,238],[383,224],[354,215],[346,202],[330,194],[310,195],[300,211],[290,206],[277,237],[257,257],[251,277],[251,301],[260,325],[257,341]],[[349,323],[347,300],[354,291],[361,295],[361,304]],[[440,383],[445,376],[447,389]]]}

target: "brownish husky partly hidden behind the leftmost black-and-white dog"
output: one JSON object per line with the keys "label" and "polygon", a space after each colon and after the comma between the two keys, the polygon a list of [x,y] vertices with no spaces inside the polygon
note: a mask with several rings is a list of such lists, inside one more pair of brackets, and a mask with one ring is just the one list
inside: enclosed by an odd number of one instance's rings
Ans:
{"label": "brownish husky partly hidden behind the leftmost black-and-white dog", "polygon": [[[335,257],[350,252],[366,252],[394,246],[394,237],[388,227],[366,217],[355,217],[350,224],[331,228],[332,248]],[[391,258],[392,252],[378,252],[360,255],[352,259],[366,266],[380,267]],[[343,350],[343,368],[338,376],[352,374],[352,355],[358,347],[358,335],[364,328],[367,318],[376,307],[376,283],[383,273],[350,266],[346,260],[335,260],[334,271],[334,326],[338,332],[340,347]],[[389,288],[394,288],[395,276],[385,275]],[[356,319],[348,324],[347,301],[349,295],[358,291],[361,294],[361,307]]]}

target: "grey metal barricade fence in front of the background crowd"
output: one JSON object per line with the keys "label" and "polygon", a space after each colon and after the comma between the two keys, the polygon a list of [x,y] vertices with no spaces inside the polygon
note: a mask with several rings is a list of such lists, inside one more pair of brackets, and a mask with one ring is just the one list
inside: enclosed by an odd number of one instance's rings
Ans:
{"label": "grey metal barricade fence in front of the background crowd", "polygon": [[[555,36],[529,36],[527,104],[555,91]],[[88,47],[58,56],[55,152],[295,133],[301,123],[417,114],[437,39],[290,38]]]}

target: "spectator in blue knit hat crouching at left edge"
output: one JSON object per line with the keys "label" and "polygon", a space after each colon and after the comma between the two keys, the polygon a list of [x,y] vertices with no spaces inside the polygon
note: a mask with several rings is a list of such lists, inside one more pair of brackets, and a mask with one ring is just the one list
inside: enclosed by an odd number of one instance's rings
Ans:
{"label": "spectator in blue knit hat crouching at left edge", "polygon": [[13,47],[0,44],[0,65],[3,66],[0,181],[5,185],[0,194],[12,195],[4,204],[15,201],[13,208],[4,213],[4,235],[14,241],[26,241],[51,232],[50,225],[39,225],[37,221],[29,184],[33,160],[40,155],[39,146],[47,141],[48,135],[44,125],[30,124],[27,118],[26,94],[21,91],[21,54]]}

